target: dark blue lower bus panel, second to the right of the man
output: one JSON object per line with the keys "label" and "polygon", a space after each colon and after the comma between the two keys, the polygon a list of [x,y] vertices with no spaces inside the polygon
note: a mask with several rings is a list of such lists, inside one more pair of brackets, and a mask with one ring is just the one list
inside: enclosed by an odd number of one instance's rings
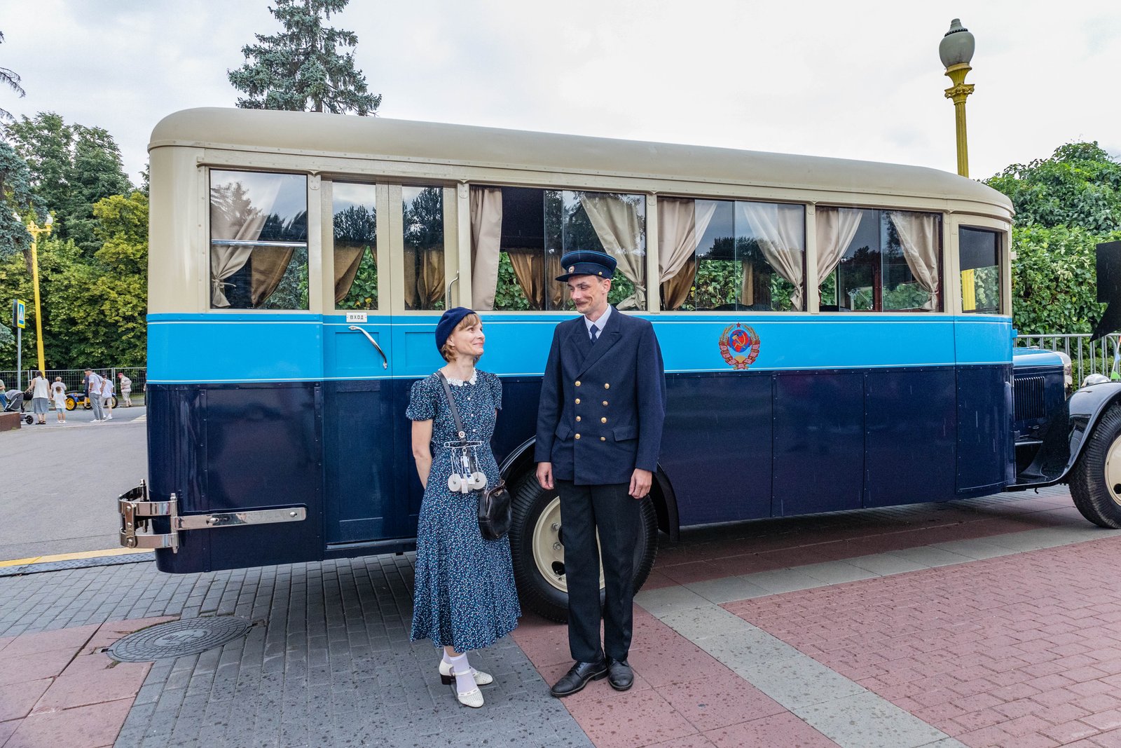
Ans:
{"label": "dark blue lower bus panel, second to the right of the man", "polygon": [[864,488],[864,376],[775,377],[775,516],[858,509]]}

